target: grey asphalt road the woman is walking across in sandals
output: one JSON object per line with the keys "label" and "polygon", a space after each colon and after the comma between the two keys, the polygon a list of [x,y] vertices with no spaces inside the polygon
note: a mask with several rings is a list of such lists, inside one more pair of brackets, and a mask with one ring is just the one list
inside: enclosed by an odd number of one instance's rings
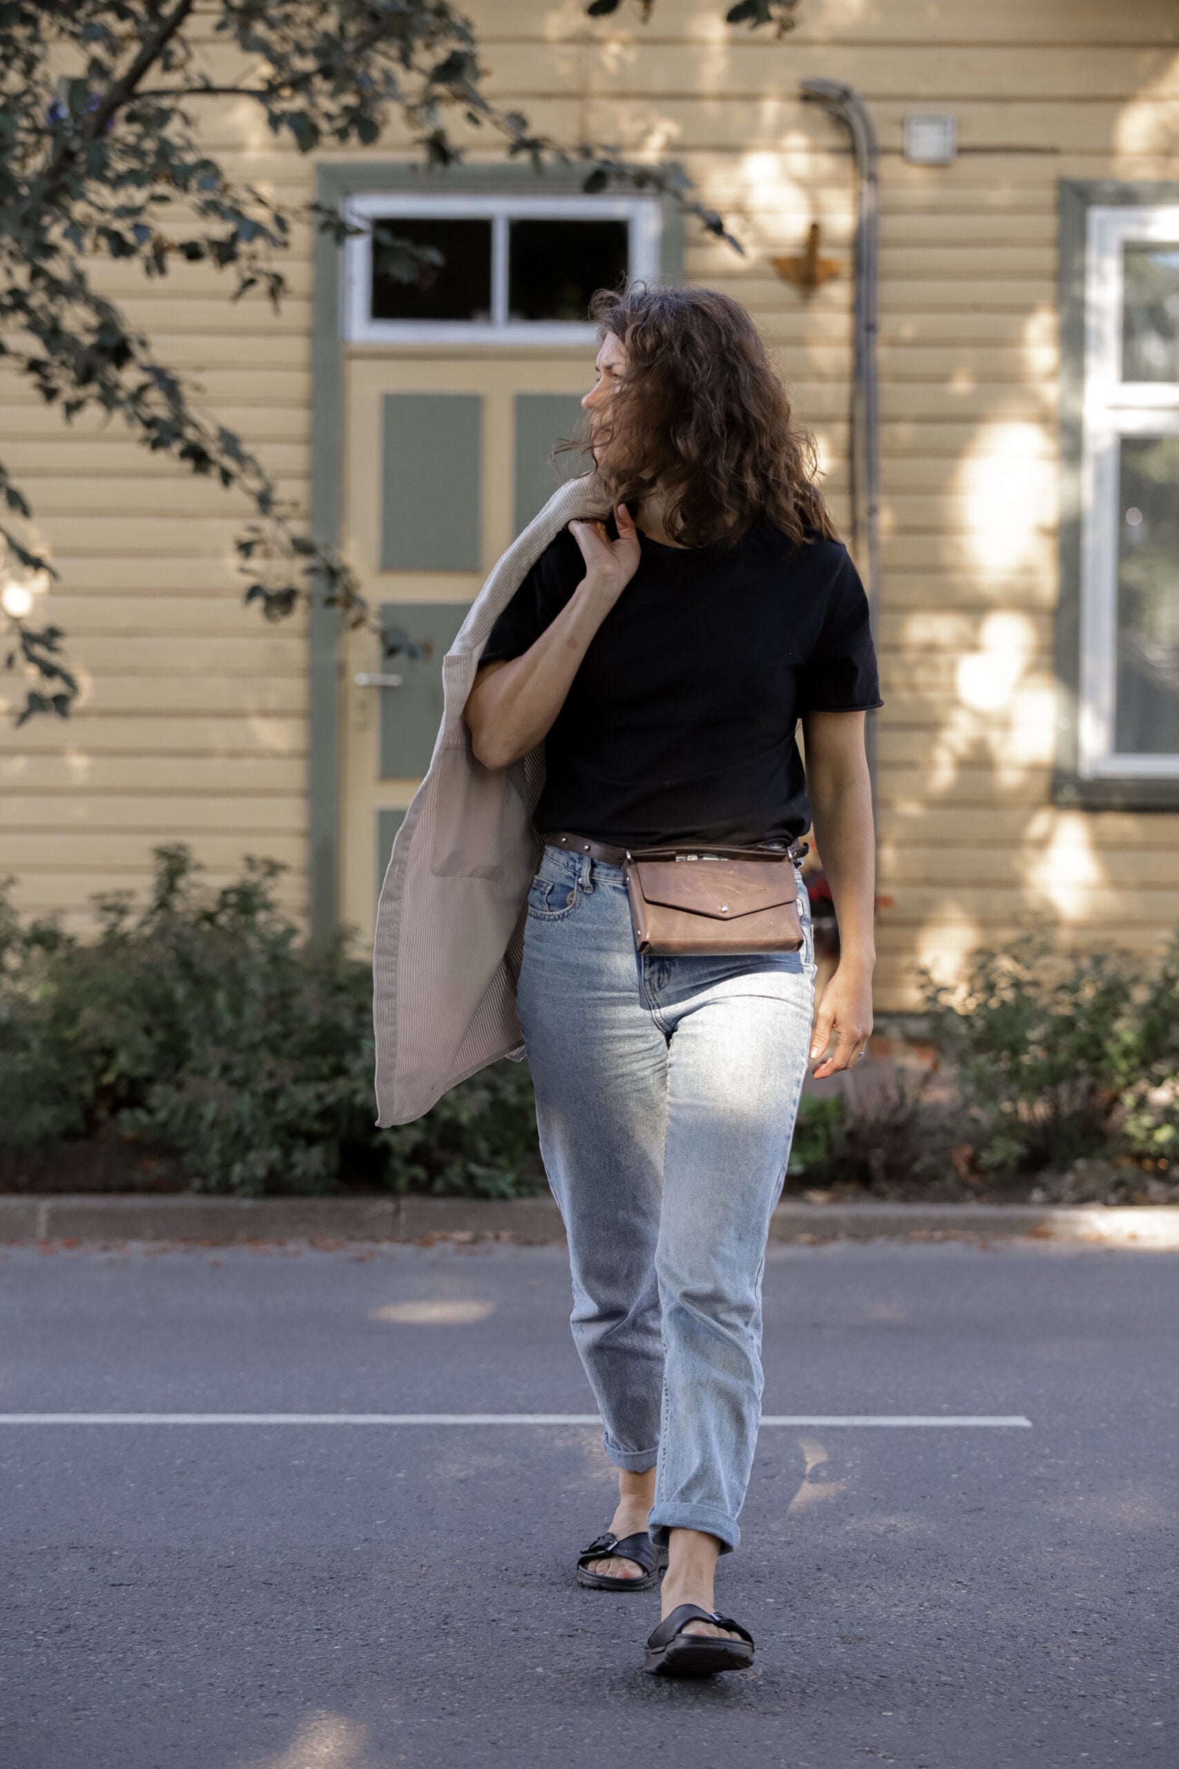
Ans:
{"label": "grey asphalt road the woman is walking across in sandals", "polygon": [[[585,1413],[562,1247],[0,1249],[0,1412]],[[4,1769],[1179,1760],[1179,1260],[774,1247],[721,1604],[580,1590],[592,1426],[0,1424]]]}

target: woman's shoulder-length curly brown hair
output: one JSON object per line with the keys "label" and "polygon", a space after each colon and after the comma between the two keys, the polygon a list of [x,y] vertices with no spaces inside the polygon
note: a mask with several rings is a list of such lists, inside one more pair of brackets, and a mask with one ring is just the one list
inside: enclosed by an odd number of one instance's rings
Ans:
{"label": "woman's shoulder-length curly brown hair", "polygon": [[741,302],[631,283],[599,288],[590,318],[626,350],[605,435],[615,504],[642,502],[658,483],[663,525],[682,547],[732,545],[758,518],[795,547],[806,529],[836,536],[815,444]]}

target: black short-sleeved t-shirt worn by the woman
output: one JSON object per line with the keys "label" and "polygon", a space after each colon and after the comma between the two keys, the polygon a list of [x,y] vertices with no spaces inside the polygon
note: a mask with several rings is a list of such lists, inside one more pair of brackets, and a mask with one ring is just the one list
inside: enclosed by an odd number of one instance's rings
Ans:
{"label": "black short-sleeved t-shirt worn by the woman", "polygon": [[[536,828],[629,847],[792,840],[811,821],[797,718],[882,704],[847,548],[815,534],[795,550],[767,522],[735,547],[640,543],[544,739]],[[527,651],[583,577],[562,529],[481,663]]]}

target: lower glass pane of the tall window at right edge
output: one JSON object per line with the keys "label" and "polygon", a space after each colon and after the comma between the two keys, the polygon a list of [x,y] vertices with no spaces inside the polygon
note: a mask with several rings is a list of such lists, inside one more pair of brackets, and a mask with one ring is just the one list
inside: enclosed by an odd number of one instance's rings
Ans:
{"label": "lower glass pane of the tall window at right edge", "polygon": [[1122,437],[1117,559],[1121,755],[1179,755],[1179,437]]}

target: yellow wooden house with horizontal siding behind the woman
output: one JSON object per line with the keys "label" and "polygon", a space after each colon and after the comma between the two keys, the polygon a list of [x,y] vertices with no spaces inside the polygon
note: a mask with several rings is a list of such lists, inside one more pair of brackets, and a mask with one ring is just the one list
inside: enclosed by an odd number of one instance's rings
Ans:
{"label": "yellow wooden house with horizontal siding behind the woman", "polygon": [[[23,907],[87,925],[92,892],[143,888],[150,847],[186,840],[214,884],[246,854],[285,862],[285,906],[364,950],[437,656],[555,483],[594,357],[585,294],[620,272],[749,308],[845,529],[856,456],[868,577],[854,318],[875,189],[879,1007],[1029,916],[1140,952],[1179,923],[1179,5],[802,0],[780,41],[723,11],[470,5],[493,97],[679,165],[742,255],[486,134],[428,177],[396,129],[302,157],[247,103],[209,104],[233,172],[361,232],[302,228],[278,317],[205,267],[106,280],[433,663],[323,612],[265,624],[235,580],[244,506],[5,379],[0,458],[60,573],[37,612],[83,681],[69,722],[0,725],[0,870]],[[875,136],[875,188],[836,88]],[[384,272],[380,219],[442,246],[430,292]]]}

